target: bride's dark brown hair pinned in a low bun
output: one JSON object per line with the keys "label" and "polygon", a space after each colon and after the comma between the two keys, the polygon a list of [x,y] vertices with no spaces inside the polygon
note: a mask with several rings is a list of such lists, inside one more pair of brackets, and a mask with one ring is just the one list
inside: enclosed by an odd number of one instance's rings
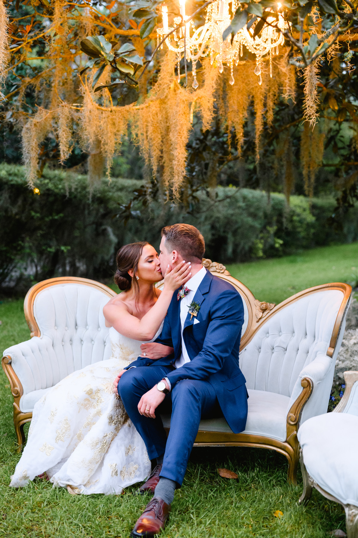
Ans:
{"label": "bride's dark brown hair pinned in a low bun", "polygon": [[[122,291],[133,288],[133,291],[138,293],[139,286],[135,274],[137,273],[138,262],[142,255],[143,247],[146,245],[149,245],[146,241],[130,243],[122,246],[117,252],[117,271],[113,280]],[[131,269],[133,270],[133,278],[128,273]]]}

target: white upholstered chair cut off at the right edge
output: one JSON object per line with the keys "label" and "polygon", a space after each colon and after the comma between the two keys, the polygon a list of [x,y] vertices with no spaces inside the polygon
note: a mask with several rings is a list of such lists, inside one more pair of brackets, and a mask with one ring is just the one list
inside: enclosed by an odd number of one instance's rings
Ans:
{"label": "white upholstered chair cut off at the right edge", "polygon": [[298,430],[305,504],[315,487],[346,512],[348,538],[358,538],[358,372],[345,372],[346,390],[333,413],[315,416]]}

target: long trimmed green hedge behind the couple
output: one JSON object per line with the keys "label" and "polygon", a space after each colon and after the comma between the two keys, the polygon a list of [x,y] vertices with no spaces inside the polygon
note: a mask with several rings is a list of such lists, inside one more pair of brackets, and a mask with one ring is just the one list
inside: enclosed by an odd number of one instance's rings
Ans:
{"label": "long trimmed green hedge behind the couple", "polygon": [[358,239],[358,206],[341,227],[329,220],[333,198],[292,196],[218,187],[199,193],[190,210],[170,203],[134,201],[141,181],[105,179],[89,188],[86,176],[45,169],[40,195],[28,189],[24,168],[0,165],[0,285],[19,287],[55,275],[111,276],[118,248],[137,240],[159,246],[162,226],[194,224],[206,241],[205,256],[223,263],[297,253]]}

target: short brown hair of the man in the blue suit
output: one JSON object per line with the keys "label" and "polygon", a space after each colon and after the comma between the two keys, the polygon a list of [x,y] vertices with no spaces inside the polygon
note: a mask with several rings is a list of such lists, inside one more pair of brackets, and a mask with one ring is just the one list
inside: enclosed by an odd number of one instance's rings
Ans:
{"label": "short brown hair of the man in the blue suit", "polygon": [[169,252],[177,250],[185,261],[201,263],[205,252],[205,241],[202,234],[191,224],[173,224],[164,226],[162,237],[166,238],[166,249]]}

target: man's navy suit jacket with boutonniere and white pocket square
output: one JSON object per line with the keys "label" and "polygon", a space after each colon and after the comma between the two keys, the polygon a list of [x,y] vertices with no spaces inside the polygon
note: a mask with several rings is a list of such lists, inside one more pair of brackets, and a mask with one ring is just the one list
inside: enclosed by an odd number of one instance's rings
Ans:
{"label": "man's navy suit jacket with boutonniere and white pocket square", "polygon": [[[183,338],[190,362],[167,374],[171,387],[181,379],[201,379],[213,386],[225,419],[234,433],[243,431],[247,419],[246,379],[239,367],[244,305],[240,294],[225,280],[206,272],[194,301],[197,317],[188,312]],[[194,323],[197,320],[199,323]],[[139,357],[131,366],[173,365],[182,352],[180,301],[173,294],[163,329],[155,342],[174,348],[174,354],[153,360]]]}

